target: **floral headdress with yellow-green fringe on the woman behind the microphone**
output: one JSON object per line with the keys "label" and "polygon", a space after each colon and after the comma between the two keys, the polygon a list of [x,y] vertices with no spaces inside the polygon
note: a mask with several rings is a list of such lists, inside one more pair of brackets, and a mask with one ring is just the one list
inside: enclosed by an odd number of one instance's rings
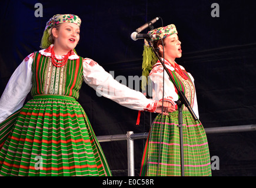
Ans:
{"label": "floral headdress with yellow-green fringe on the woman behind the microphone", "polygon": [[[148,35],[152,35],[151,42],[158,41],[159,39],[167,38],[173,34],[178,34],[177,29],[174,24],[167,25],[165,27],[152,29],[148,32]],[[149,70],[158,61],[153,49],[149,46],[148,41],[144,40],[144,51],[143,51],[143,61],[142,61],[142,91],[145,90],[147,86],[147,78],[149,75]]]}

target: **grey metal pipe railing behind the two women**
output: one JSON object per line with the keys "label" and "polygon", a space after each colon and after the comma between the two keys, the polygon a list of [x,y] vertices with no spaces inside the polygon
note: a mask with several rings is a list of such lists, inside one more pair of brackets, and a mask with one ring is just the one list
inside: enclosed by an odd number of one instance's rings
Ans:
{"label": "grey metal pipe railing behind the two women", "polygon": [[[248,132],[256,130],[256,125],[239,125],[239,126],[224,126],[224,127],[211,127],[205,128],[206,134],[227,133],[227,132]],[[128,176],[134,176],[134,140],[146,139],[148,133],[134,133],[128,131],[123,135],[106,135],[97,136],[99,142],[112,142],[118,140],[127,140],[127,153],[128,153]]]}

